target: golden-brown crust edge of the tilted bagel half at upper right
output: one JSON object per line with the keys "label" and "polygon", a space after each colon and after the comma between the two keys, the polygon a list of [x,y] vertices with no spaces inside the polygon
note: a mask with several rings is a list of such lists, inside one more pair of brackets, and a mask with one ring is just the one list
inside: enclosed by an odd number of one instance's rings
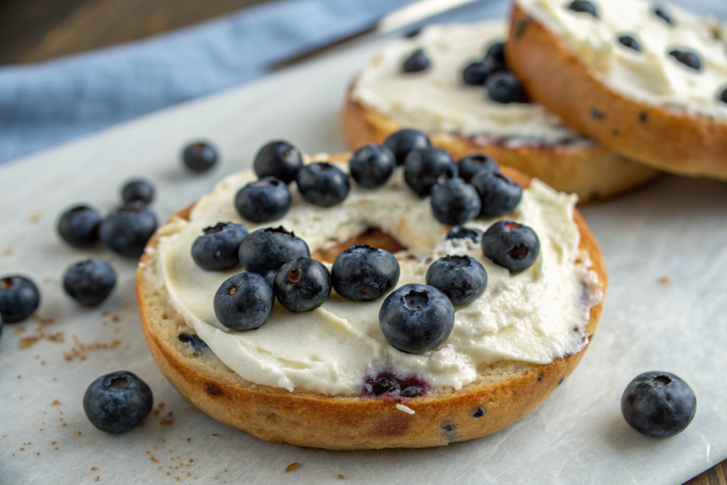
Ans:
{"label": "golden-brown crust edge of the tilted bagel half at upper right", "polygon": [[505,54],[531,96],[570,127],[657,169],[727,179],[727,124],[611,92],[517,4]]}

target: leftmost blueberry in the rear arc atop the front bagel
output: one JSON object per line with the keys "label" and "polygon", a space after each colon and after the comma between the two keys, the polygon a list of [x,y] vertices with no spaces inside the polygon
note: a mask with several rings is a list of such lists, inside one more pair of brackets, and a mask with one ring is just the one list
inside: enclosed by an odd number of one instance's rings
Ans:
{"label": "leftmost blueberry in the rear arc atop the front bagel", "polygon": [[237,212],[253,223],[269,223],[284,217],[292,198],[288,185],[276,177],[265,176],[241,188],[235,196]]}

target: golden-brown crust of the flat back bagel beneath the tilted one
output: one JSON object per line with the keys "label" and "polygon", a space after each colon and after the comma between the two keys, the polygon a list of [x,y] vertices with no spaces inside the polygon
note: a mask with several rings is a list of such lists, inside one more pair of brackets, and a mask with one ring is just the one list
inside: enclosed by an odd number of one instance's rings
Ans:
{"label": "golden-brown crust of the flat back bagel beneath the tilted one", "polygon": [[[353,87],[353,84],[352,84]],[[382,143],[401,125],[369,111],[351,98],[342,113],[342,130],[348,148]],[[468,137],[430,133],[433,145],[449,151],[455,159],[470,153],[487,153],[500,164],[536,177],[558,191],[577,193],[580,201],[606,199],[653,179],[659,172],[635,164],[598,145],[505,147]]]}

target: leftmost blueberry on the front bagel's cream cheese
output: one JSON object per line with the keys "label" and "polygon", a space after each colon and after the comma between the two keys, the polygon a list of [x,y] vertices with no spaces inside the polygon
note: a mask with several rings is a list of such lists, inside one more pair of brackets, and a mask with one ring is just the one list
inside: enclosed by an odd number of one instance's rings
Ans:
{"label": "leftmost blueberry on the front bagel's cream cheese", "polygon": [[244,225],[233,223],[217,223],[205,228],[192,244],[192,259],[203,270],[235,268],[240,262],[240,244],[248,232]]}

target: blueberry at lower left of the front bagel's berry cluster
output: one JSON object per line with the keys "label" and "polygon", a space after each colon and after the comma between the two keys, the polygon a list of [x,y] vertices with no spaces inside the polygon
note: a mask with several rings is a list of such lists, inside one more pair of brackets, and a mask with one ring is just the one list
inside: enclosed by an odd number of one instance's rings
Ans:
{"label": "blueberry at lower left of the front bagel's berry cluster", "polygon": [[273,289],[257,273],[240,273],[220,285],[214,294],[214,316],[233,330],[262,326],[273,310]]}

